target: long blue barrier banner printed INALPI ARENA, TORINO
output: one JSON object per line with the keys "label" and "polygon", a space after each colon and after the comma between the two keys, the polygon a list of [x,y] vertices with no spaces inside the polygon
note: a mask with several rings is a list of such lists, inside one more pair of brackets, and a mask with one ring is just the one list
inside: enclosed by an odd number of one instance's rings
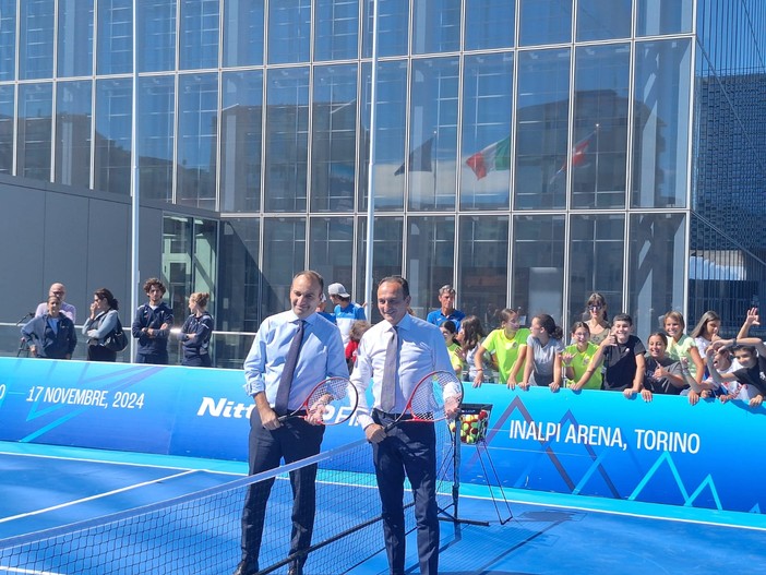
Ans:
{"label": "long blue barrier banner printed INALPI ARENA, TORINO", "polygon": [[[252,399],[239,370],[0,358],[0,440],[247,462]],[[766,409],[684,397],[625,399],[486,384],[486,442],[462,444],[460,479],[502,486],[762,513]],[[417,424],[417,423],[412,423]],[[357,419],[323,448],[363,436]]]}

